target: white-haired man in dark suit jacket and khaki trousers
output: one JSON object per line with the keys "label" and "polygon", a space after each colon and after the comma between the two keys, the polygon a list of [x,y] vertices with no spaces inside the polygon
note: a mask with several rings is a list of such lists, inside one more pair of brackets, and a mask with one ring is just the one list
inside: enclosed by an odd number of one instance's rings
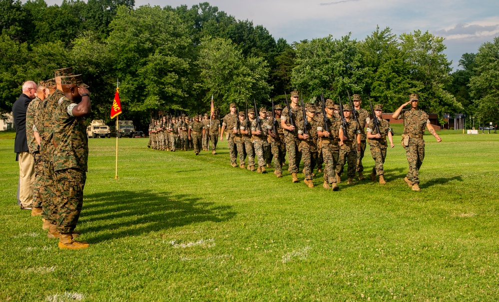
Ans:
{"label": "white-haired man in dark suit jacket and khaki trousers", "polygon": [[14,152],[19,161],[19,184],[17,186],[17,204],[21,209],[31,210],[33,203],[34,160],[29,154],[26,138],[26,109],[35,98],[37,85],[33,81],[22,84],[22,93],[12,106],[15,126]]}

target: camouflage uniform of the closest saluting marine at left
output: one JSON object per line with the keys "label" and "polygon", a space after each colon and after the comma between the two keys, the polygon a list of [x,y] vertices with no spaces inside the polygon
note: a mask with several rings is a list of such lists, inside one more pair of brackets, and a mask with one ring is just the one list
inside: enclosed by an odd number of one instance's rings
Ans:
{"label": "camouflage uniform of the closest saluting marine at left", "polygon": [[[61,78],[62,84],[80,84],[78,76]],[[88,139],[85,118],[72,116],[75,103],[66,97],[58,100],[53,122],[53,167],[55,204],[57,205],[57,231],[71,233],[76,227],[83,205]]]}

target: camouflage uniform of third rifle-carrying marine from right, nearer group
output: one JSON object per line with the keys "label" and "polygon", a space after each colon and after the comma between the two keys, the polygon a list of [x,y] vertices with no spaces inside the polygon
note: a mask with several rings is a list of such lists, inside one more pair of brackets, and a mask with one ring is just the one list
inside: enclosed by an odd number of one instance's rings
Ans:
{"label": "camouflage uniform of third rifle-carrying marine from right, nearer group", "polygon": [[[345,105],[344,110],[350,110],[350,105]],[[340,126],[343,129],[343,125]],[[350,121],[347,122],[347,129],[343,129],[346,137],[348,139],[343,140],[343,146],[340,147],[340,156],[338,158],[338,164],[336,165],[336,173],[341,176],[343,173],[343,167],[348,161],[348,178],[355,177],[355,171],[357,168],[357,135],[361,133],[359,124],[354,120],[353,116],[350,115]]]}

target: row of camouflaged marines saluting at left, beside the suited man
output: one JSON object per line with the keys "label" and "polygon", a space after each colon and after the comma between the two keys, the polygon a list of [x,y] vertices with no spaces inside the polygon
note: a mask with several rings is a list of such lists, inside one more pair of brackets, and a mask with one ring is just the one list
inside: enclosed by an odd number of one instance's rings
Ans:
{"label": "row of camouflaged marines saluting at left, beside the suited man", "polygon": [[42,217],[48,238],[60,249],[82,249],[75,231],[83,204],[88,139],[84,124],[90,112],[90,92],[72,68],[55,70],[40,81],[26,111],[28,148],[35,160],[32,216]]}

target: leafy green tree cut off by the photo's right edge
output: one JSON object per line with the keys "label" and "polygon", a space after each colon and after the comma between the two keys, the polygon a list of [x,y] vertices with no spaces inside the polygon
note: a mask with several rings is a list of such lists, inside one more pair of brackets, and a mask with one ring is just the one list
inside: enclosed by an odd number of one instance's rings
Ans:
{"label": "leafy green tree cut off by the photo's right edge", "polygon": [[470,79],[475,112],[484,122],[499,121],[499,36],[480,46],[475,59],[476,75]]}

